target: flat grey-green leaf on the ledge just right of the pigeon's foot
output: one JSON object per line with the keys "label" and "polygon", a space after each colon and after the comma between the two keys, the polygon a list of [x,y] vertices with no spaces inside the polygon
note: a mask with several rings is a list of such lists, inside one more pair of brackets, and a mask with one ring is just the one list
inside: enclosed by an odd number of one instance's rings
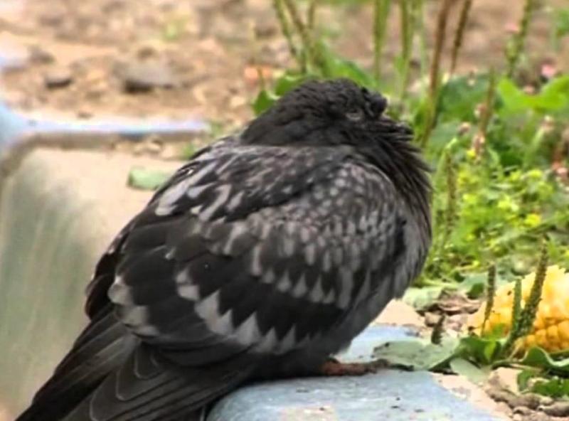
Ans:
{"label": "flat grey-green leaf on the ledge just right of the pigeon's foot", "polygon": [[386,342],[373,350],[373,357],[413,370],[433,370],[452,358],[457,343],[457,339],[449,337],[443,338],[440,345],[420,338]]}

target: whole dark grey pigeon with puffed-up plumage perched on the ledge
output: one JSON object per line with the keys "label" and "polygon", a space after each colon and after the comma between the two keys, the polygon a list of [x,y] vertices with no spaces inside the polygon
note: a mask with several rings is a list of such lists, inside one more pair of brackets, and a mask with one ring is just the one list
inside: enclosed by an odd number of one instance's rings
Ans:
{"label": "whole dark grey pigeon with puffed-up plumage perched on the ledge", "polygon": [[430,168],[387,107],[308,80],[196,152],[97,262],[90,321],[17,421],[203,420],[246,383],[341,373],[432,238]]}

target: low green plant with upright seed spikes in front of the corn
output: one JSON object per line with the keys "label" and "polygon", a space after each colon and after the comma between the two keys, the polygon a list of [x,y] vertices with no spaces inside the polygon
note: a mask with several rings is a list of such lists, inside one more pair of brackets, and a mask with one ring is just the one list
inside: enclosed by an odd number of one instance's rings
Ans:
{"label": "low green plant with upright seed spikes in front of the corn", "polygon": [[526,353],[520,353],[520,348],[516,348],[516,343],[528,334],[536,319],[543,282],[546,279],[548,262],[546,250],[544,243],[536,279],[523,307],[521,282],[519,279],[516,280],[511,309],[512,321],[509,328],[503,324],[494,324],[490,331],[484,330],[492,309],[495,289],[495,272],[490,269],[489,295],[480,336],[472,331],[459,339],[445,336],[442,334],[443,318],[441,318],[432,331],[430,341],[406,339],[383,343],[376,347],[374,356],[397,366],[462,374],[475,383],[484,382],[492,368],[512,366],[521,369],[518,379],[521,390],[531,390],[553,397],[568,396],[569,350],[562,353],[548,353],[543,348],[533,346]]}

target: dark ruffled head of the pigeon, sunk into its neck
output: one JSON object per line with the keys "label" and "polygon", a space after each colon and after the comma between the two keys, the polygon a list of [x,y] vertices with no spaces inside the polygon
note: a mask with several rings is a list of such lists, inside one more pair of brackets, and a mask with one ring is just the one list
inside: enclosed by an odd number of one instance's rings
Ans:
{"label": "dark ruffled head of the pigeon, sunk into its neck", "polygon": [[364,146],[408,141],[413,131],[385,115],[387,100],[347,79],[309,80],[253,120],[248,144]]}

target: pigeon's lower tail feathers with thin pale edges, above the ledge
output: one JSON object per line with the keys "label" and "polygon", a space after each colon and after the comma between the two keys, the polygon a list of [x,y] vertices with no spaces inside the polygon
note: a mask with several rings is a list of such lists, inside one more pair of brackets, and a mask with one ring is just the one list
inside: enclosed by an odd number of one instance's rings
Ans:
{"label": "pigeon's lower tail feathers with thin pale edges, above the ledge", "polygon": [[[139,372],[141,366],[146,367],[145,373]],[[64,421],[199,420],[203,407],[251,374],[252,366],[236,360],[208,368],[183,368],[139,346]]]}

